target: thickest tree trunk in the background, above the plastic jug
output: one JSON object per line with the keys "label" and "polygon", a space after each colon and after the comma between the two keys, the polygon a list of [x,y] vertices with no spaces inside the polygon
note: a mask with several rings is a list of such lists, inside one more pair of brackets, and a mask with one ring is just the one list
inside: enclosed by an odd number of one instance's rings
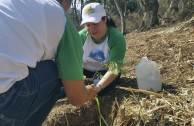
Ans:
{"label": "thickest tree trunk in the background, above the plastic jug", "polygon": [[158,1],[157,0],[145,0],[143,5],[144,5],[145,10],[144,10],[143,23],[142,23],[142,30],[147,30],[156,25],[159,25]]}

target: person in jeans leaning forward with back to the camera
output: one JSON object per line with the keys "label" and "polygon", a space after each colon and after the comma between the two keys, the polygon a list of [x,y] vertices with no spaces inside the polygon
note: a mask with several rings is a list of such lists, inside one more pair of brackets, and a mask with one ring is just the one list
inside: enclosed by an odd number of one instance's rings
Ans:
{"label": "person in jeans leaning forward with back to the camera", "polygon": [[0,126],[41,126],[61,87],[73,105],[94,99],[97,89],[84,86],[82,54],[57,1],[0,0]]}

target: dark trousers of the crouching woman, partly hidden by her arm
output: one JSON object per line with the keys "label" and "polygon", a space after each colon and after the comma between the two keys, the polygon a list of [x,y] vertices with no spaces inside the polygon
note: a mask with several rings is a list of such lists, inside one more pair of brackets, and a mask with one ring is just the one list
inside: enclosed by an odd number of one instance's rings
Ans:
{"label": "dark trousers of the crouching woman, partly hidden by her arm", "polygon": [[[98,73],[101,74],[101,75],[105,75],[106,72],[107,72],[107,71],[105,71],[105,70],[104,70],[104,71],[98,71]],[[84,75],[86,76],[86,78],[93,78],[94,75],[96,74],[96,72],[91,72],[91,71],[88,71],[88,70],[86,70],[86,69],[83,69],[83,73],[84,73]],[[110,91],[110,90],[112,90],[113,88],[115,88],[116,85],[119,83],[120,76],[121,76],[121,74],[119,74],[119,75],[117,76],[117,78],[116,78],[112,83],[110,83],[107,87],[105,87],[103,90],[101,90],[101,91],[98,93],[98,95],[99,95],[99,96],[103,96],[103,95],[105,95],[108,91]]]}

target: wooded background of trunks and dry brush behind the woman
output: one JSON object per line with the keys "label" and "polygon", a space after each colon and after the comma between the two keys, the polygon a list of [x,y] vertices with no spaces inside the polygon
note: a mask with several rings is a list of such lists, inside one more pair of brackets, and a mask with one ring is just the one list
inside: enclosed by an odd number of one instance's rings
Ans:
{"label": "wooded background of trunks and dry brush behind the woman", "polygon": [[167,26],[194,14],[193,0],[74,0],[69,13],[78,29],[81,29],[80,10],[90,2],[101,3],[124,34]]}

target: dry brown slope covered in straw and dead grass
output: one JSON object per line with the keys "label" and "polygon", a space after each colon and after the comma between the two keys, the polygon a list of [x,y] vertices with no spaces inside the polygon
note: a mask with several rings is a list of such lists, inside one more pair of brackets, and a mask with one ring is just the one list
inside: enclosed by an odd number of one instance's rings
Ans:
{"label": "dry brown slope covered in straw and dead grass", "polygon": [[[194,17],[125,37],[118,87],[80,107],[59,100],[43,126],[194,126]],[[143,56],[160,68],[163,91],[138,90],[135,66]]]}

